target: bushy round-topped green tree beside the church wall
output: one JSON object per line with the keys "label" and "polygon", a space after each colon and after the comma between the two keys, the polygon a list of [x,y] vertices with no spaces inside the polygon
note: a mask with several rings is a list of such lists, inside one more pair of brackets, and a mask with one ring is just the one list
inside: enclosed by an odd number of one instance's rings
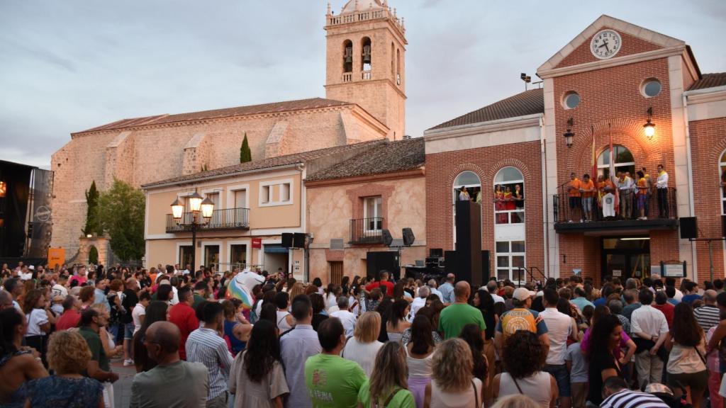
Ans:
{"label": "bushy round-topped green tree beside the church wall", "polygon": [[111,250],[123,261],[144,256],[145,201],[140,189],[118,179],[99,198],[101,224],[110,236]]}

